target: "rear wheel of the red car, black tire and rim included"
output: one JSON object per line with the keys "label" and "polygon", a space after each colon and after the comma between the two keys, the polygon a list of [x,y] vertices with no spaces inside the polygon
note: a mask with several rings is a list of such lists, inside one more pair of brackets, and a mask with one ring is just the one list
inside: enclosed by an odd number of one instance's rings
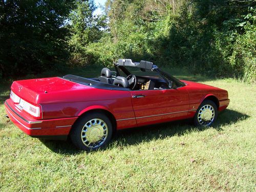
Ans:
{"label": "rear wheel of the red car, black tire and rim included", "polygon": [[[101,120],[101,123],[100,123],[100,120]],[[95,124],[93,124],[94,122]],[[108,131],[106,132],[105,130],[103,130],[104,129],[103,127],[106,127],[106,130]],[[94,141],[95,139],[100,138],[101,136],[100,134],[102,133],[102,130],[103,130],[103,134],[107,133],[105,137],[103,136],[104,140],[102,139],[103,138],[102,137],[99,141],[92,142],[92,140]],[[88,133],[88,136],[85,133]],[[96,135],[98,134],[98,136],[95,136],[94,133],[96,133]],[[113,126],[110,119],[103,113],[92,112],[80,117],[74,123],[74,125],[72,126],[72,130],[70,132],[70,138],[72,143],[77,148],[79,148],[80,150],[86,150],[90,152],[90,151],[96,151],[99,148],[106,147],[106,145],[110,142],[112,138],[112,133],[113,133]],[[101,142],[102,144],[100,144]],[[92,143],[92,144],[89,144],[89,143]],[[97,143],[100,145],[97,146],[98,145]],[[95,146],[92,146],[93,144],[95,144]]]}

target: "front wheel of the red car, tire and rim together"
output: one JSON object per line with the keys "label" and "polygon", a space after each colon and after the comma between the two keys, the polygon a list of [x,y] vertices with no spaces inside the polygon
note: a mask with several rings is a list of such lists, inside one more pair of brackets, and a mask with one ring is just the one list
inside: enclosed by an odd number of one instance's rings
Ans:
{"label": "front wheel of the red car, tire and rim together", "polygon": [[215,102],[211,100],[205,100],[199,106],[196,115],[194,117],[195,125],[210,126],[218,115],[218,109]]}

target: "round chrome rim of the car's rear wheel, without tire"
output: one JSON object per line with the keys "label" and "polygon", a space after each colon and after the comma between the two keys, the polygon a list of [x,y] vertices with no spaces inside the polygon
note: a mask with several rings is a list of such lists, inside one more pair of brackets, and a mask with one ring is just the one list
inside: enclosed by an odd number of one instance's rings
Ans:
{"label": "round chrome rim of the car's rear wheel, without tire", "polygon": [[87,147],[96,148],[105,142],[108,132],[108,125],[102,119],[91,119],[82,128],[81,139]]}

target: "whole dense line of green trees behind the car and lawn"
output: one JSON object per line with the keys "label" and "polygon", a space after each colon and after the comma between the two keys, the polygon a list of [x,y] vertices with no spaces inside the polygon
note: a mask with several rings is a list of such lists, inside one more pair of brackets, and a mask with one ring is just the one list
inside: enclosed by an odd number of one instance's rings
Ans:
{"label": "whole dense line of green trees behind the car and lawn", "polygon": [[253,0],[2,1],[0,75],[120,57],[206,75],[256,79]]}

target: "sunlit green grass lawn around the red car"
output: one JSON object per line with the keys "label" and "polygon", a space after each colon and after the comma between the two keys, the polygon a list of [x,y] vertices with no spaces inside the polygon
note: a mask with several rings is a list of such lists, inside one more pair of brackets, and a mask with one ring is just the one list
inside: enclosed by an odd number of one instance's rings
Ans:
{"label": "sunlit green grass lawn around the red car", "polygon": [[228,90],[230,105],[213,127],[177,121],[126,130],[93,153],[24,134],[4,117],[10,84],[2,85],[0,191],[255,191],[255,86],[174,73]]}

